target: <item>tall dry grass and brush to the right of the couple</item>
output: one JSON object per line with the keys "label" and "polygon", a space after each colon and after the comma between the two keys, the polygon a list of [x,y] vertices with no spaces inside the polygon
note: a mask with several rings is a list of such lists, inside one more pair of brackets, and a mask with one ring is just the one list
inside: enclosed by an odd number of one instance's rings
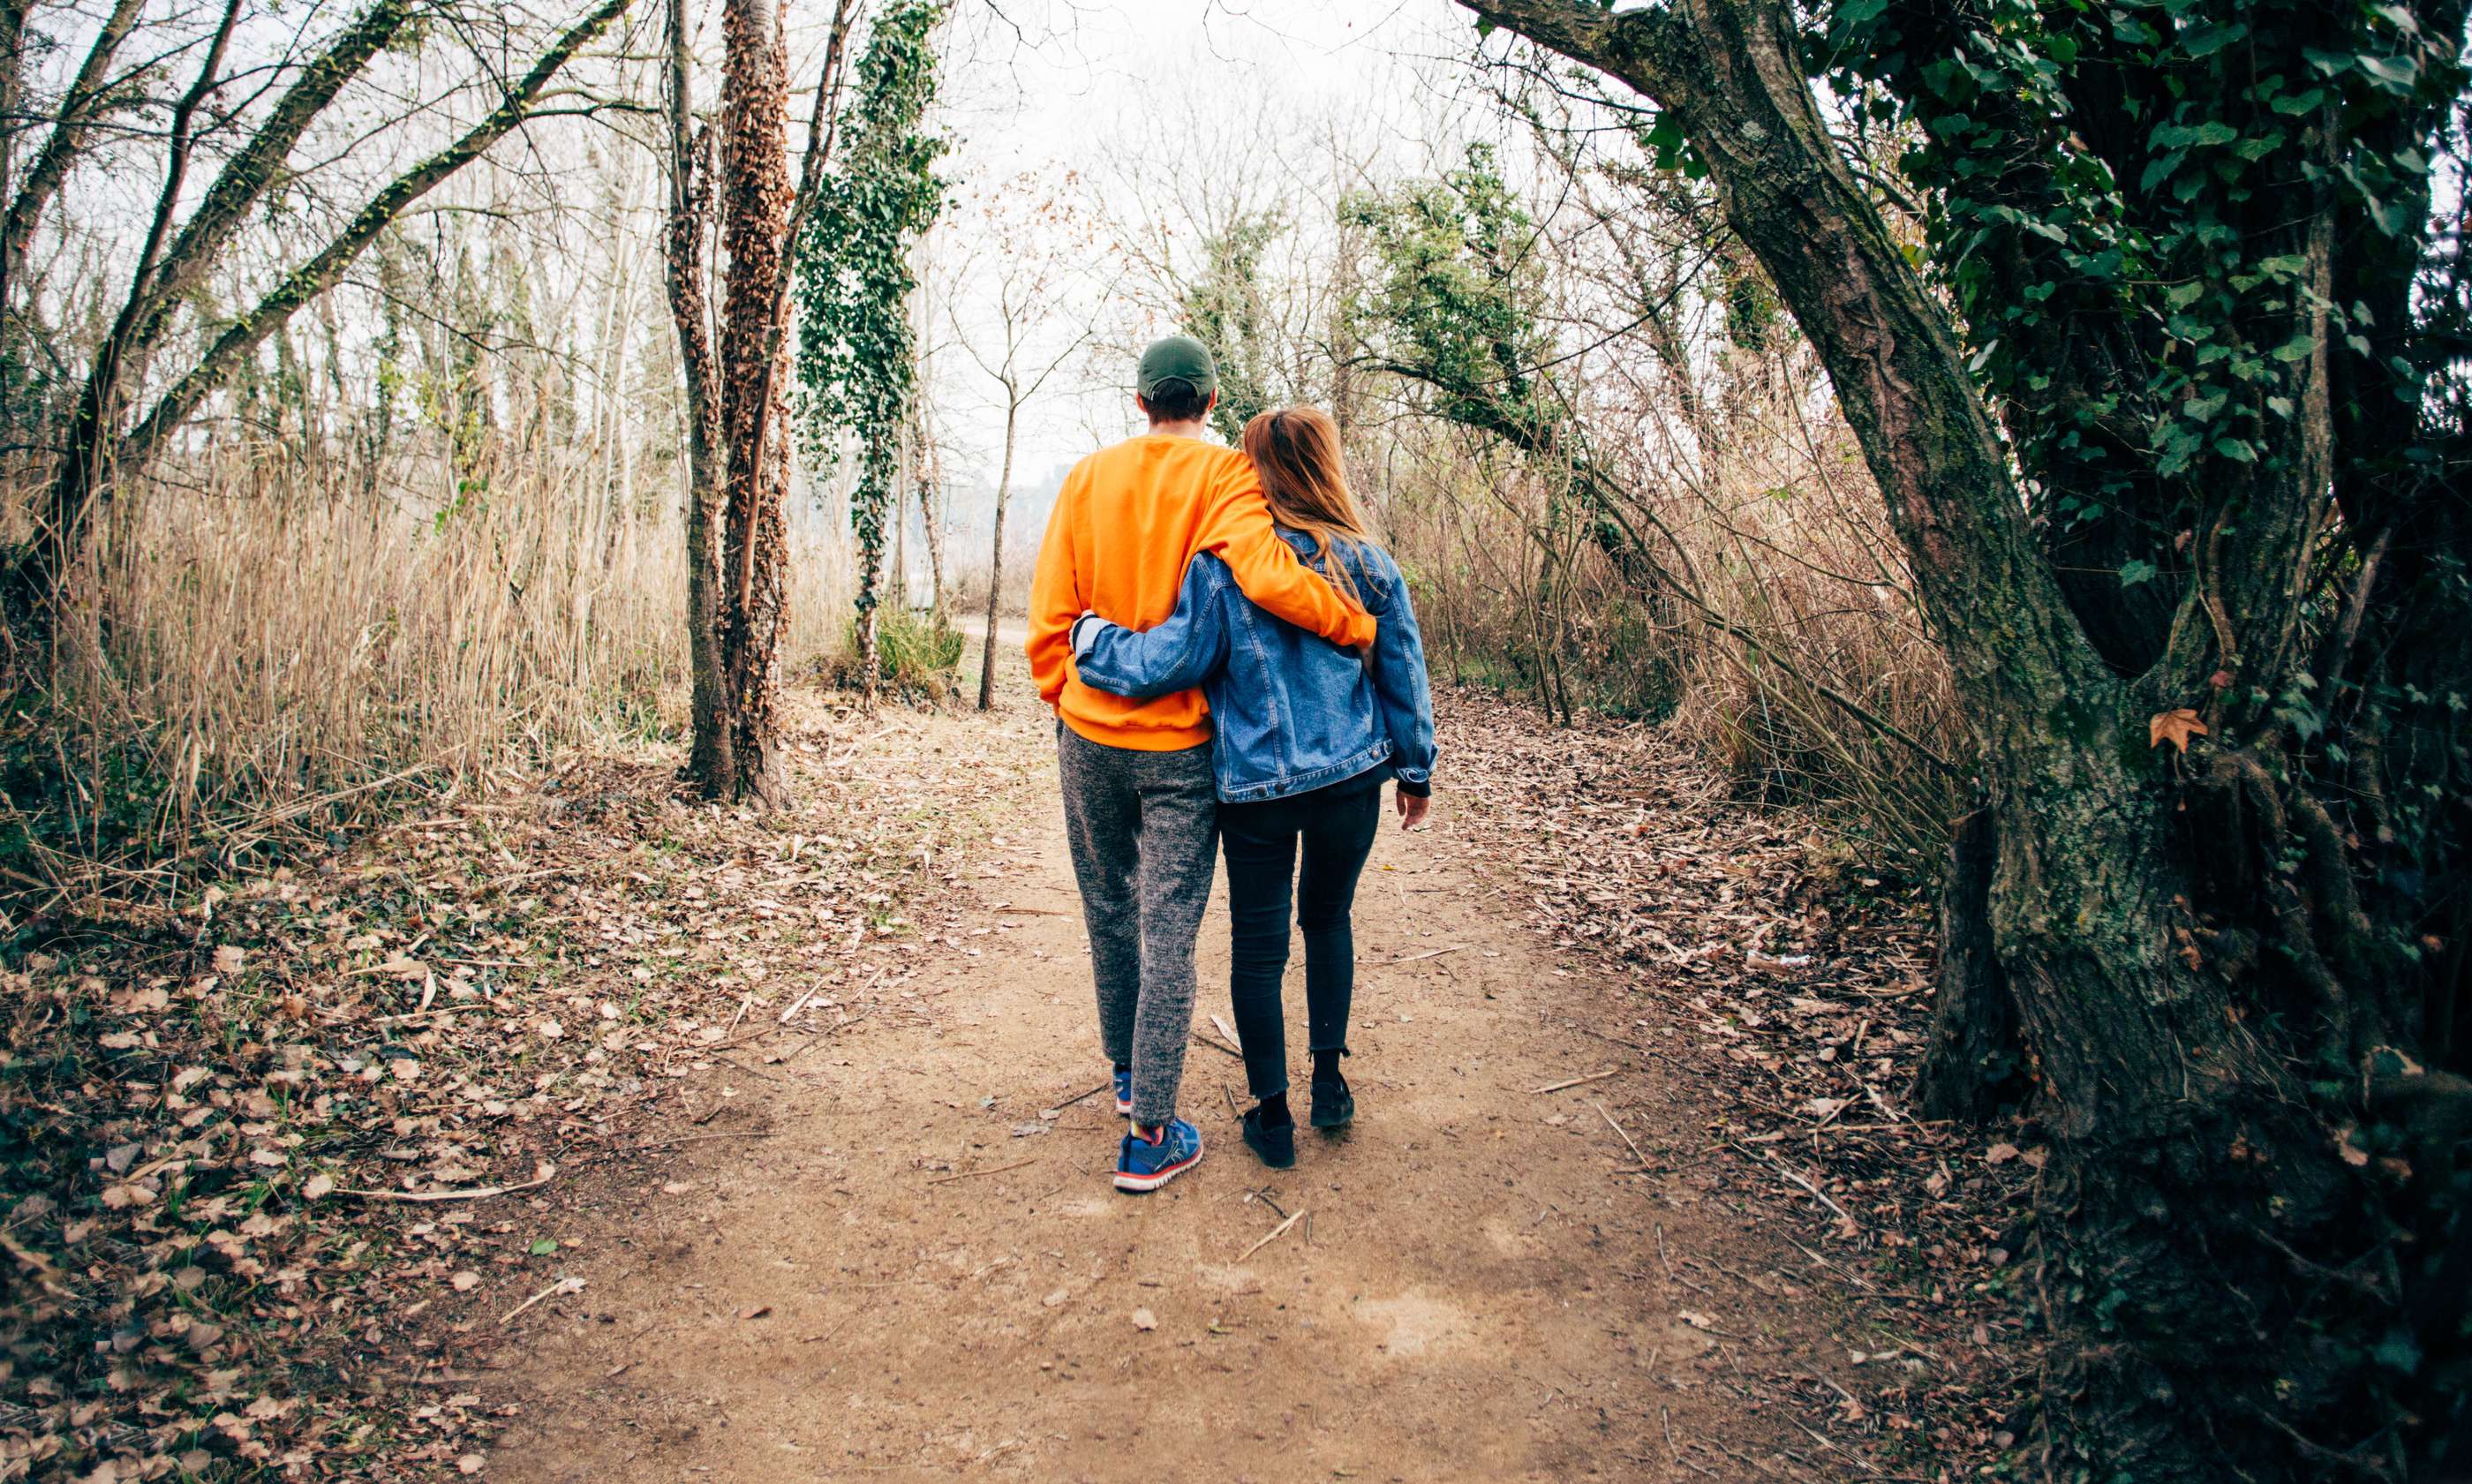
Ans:
{"label": "tall dry grass and brush to the right of the couple", "polygon": [[1834,420],[1755,403],[1733,433],[1713,467],[1602,450],[1664,569],[1649,579],[1617,569],[1587,502],[1535,460],[1409,433],[1384,524],[1434,673],[1565,722],[1661,720],[1740,796],[1819,811],[1876,868],[1928,876],[1970,740],[1879,495]]}

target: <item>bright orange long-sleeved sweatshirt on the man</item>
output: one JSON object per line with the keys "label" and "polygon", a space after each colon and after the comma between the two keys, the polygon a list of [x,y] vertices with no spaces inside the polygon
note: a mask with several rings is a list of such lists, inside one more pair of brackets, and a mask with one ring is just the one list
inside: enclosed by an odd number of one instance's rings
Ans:
{"label": "bright orange long-sleeved sweatshirt on the man", "polygon": [[1177,611],[1184,564],[1211,552],[1243,596],[1340,646],[1372,643],[1374,621],[1315,576],[1271,529],[1253,463],[1234,448],[1147,433],[1073,465],[1031,576],[1031,678],[1068,727],[1107,747],[1174,752],[1211,740],[1199,690],[1127,700],[1073,670],[1083,611],[1154,628]]}

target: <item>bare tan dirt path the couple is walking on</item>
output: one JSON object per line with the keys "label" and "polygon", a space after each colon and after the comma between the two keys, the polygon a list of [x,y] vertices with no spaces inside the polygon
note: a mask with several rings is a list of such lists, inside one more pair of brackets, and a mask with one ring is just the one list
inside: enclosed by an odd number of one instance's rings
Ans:
{"label": "bare tan dirt path the couple is walking on", "polygon": [[[601,1197],[588,1286],[504,1331],[524,1402],[492,1479],[1814,1477],[1728,1385],[1827,1365],[1792,1252],[1706,1200],[1666,1073],[1577,1034],[1602,989],[1458,851],[1384,831],[1367,871],[1357,1128],[1263,1170],[1241,1066],[1192,1046],[1209,1155],[1125,1197],[1107,1098],[1043,1113],[1105,1078],[1053,769],[989,787],[1014,824],[962,947],[900,1014],[719,1073],[756,1120],[680,1128],[702,1143]],[[1444,801],[1436,829],[1468,826]],[[1224,903],[1201,974],[1206,1026]],[[1597,1103],[1651,1113],[1617,1133]],[[1308,1217],[1256,1252],[1278,1212]],[[1718,1249],[1770,1279],[1718,1308],[1666,1256]]]}

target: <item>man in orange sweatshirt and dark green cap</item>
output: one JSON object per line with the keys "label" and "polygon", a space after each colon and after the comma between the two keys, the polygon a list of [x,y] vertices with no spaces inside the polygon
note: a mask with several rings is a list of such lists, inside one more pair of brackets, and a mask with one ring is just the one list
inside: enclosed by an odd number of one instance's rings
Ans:
{"label": "man in orange sweatshirt and dark green cap", "polygon": [[1194,1019],[1194,935],[1219,858],[1211,717],[1199,690],[1127,700],[1073,670],[1073,621],[1098,613],[1152,628],[1177,611],[1184,564],[1211,552],[1248,599],[1342,646],[1374,621],[1271,529],[1253,465],[1204,443],[1219,369],[1192,336],[1142,351],[1137,401],[1149,433],[1073,465],[1031,576],[1031,678],[1056,707],[1065,838],[1090,930],[1098,1026],[1115,1061],[1115,1111],[1132,1118],[1117,1190],[1157,1190],[1201,1160],[1177,1118]]}

